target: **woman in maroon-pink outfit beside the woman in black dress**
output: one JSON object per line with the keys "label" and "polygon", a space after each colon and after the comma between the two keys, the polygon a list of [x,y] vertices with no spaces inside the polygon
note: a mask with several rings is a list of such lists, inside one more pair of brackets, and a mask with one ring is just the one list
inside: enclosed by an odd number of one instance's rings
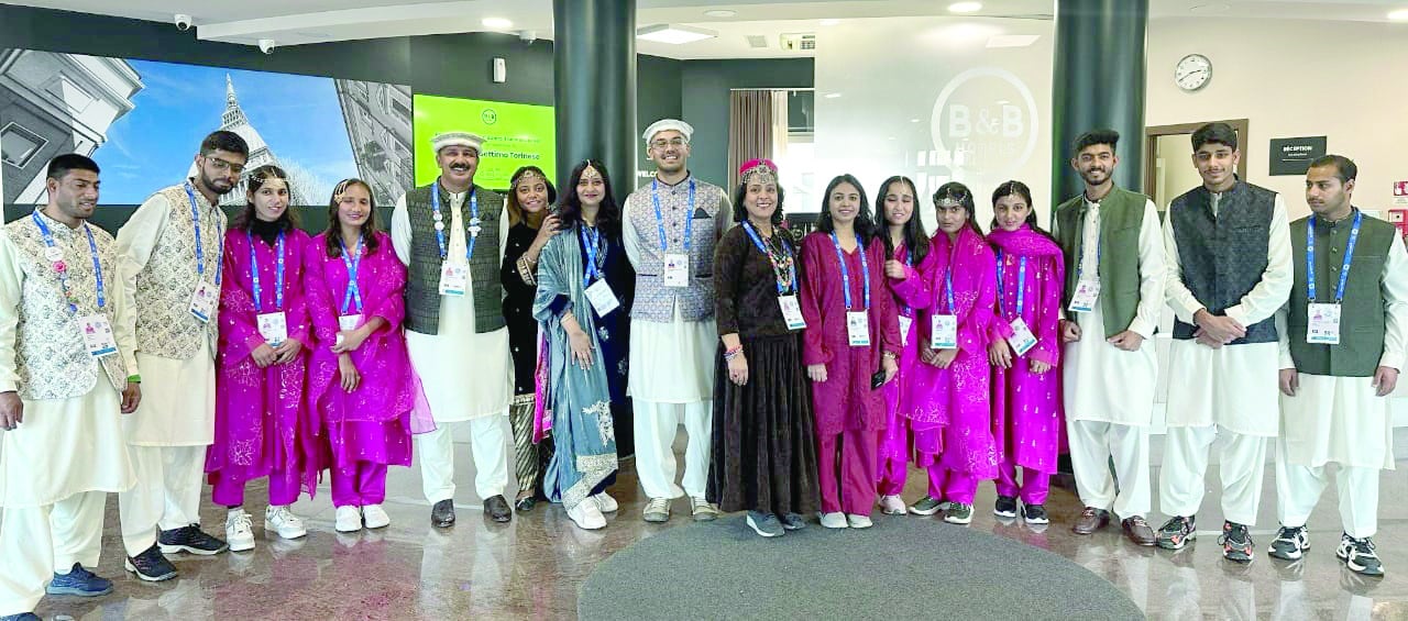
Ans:
{"label": "woman in maroon-pink outfit beside the woman in black dress", "polygon": [[872,382],[877,372],[883,382],[898,372],[900,330],[884,287],[884,244],[874,238],[860,182],[850,175],[832,179],[822,200],[817,231],[801,244],[800,294],[807,320],[803,363],[817,417],[821,525],[869,528],[886,415],[884,394]]}

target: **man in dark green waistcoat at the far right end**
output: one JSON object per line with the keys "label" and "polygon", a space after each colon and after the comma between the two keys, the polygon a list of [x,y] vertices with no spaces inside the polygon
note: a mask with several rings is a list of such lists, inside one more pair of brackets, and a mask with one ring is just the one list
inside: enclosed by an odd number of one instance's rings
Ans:
{"label": "man in dark green waistcoat at the far right end", "polygon": [[1326,155],[1305,173],[1309,217],[1291,222],[1295,284],[1277,313],[1281,435],[1276,441],[1276,517],[1269,553],[1298,560],[1305,521],[1339,466],[1343,525],[1335,555],[1383,576],[1374,552],[1378,470],[1394,469],[1390,393],[1408,345],[1408,253],[1393,224],[1350,203],[1357,166]]}

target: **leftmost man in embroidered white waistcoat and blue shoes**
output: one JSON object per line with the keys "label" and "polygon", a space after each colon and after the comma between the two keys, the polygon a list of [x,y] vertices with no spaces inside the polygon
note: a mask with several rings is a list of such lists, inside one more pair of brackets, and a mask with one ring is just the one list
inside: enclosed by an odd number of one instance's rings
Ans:
{"label": "leftmost man in embroidered white waistcoat and blue shoes", "polygon": [[142,394],[113,237],[87,224],[99,168],[61,155],[46,186],[45,207],[0,230],[4,620],[38,620],[45,593],[113,590],[86,567],[99,563],[107,494],[132,486],[121,418]]}

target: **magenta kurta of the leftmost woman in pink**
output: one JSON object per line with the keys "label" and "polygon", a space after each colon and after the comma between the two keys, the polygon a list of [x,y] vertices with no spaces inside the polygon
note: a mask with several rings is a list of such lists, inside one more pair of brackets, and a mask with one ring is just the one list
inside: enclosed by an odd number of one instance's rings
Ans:
{"label": "magenta kurta of the leftmost woman in pink", "polygon": [[291,362],[259,369],[251,352],[265,342],[253,304],[249,241],[244,230],[225,232],[220,291],[220,355],[215,373],[215,442],[206,455],[213,484],[242,483],[270,472],[297,477],[308,496],[322,469],[315,417],[304,407],[303,380],[311,342],[303,286],[303,256],[311,244],[297,228],[284,234],[283,307],[276,301],[275,245],[253,238],[263,313],[286,314],[289,338],[304,344]]}

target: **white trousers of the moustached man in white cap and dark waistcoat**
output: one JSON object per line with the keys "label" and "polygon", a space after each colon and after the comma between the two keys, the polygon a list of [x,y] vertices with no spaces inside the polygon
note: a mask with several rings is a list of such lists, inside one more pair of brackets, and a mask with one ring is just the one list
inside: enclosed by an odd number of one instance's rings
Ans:
{"label": "white trousers of the moustached man in white cap and dark waistcoat", "polygon": [[453,427],[469,425],[470,456],[474,459],[474,493],[480,500],[501,496],[508,487],[508,417],[494,414],[460,422],[435,422],[435,431],[415,437],[421,462],[421,490],[431,504],[455,497]]}

